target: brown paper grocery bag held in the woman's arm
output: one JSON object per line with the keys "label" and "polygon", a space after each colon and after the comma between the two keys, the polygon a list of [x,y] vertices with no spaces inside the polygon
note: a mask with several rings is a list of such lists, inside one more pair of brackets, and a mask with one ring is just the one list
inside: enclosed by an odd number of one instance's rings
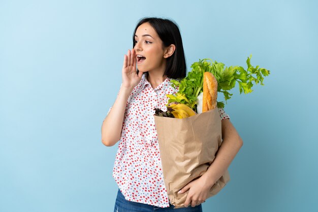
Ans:
{"label": "brown paper grocery bag held in the woman's arm", "polygon": [[[154,116],[154,121],[169,200],[175,208],[184,207],[188,191],[178,191],[207,171],[221,145],[218,109],[185,119]],[[227,170],[212,186],[208,198],[229,181]]]}

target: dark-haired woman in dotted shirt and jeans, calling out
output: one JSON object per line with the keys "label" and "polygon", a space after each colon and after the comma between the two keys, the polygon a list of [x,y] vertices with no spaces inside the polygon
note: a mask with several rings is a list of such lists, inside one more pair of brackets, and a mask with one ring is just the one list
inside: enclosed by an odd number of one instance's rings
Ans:
{"label": "dark-haired woman in dotted shirt and jeans, calling out", "polygon": [[[170,79],[186,76],[179,28],[168,19],[141,19],[133,34],[133,47],[124,55],[122,84],[102,125],[105,146],[119,141],[113,168],[119,187],[114,211],[170,211],[174,206],[164,183],[153,109],[167,111],[166,94],[178,91]],[[201,203],[210,188],[243,144],[229,116],[222,109],[219,114],[223,141],[216,158],[205,174],[180,190],[189,190],[185,207],[173,211],[202,211]]]}

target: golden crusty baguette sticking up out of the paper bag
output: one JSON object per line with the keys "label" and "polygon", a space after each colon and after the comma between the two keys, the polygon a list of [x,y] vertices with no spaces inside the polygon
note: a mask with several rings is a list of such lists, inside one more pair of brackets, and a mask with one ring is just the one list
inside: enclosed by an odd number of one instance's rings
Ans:
{"label": "golden crusty baguette sticking up out of the paper bag", "polygon": [[202,113],[215,109],[217,99],[217,81],[212,73],[203,74],[203,105]]}

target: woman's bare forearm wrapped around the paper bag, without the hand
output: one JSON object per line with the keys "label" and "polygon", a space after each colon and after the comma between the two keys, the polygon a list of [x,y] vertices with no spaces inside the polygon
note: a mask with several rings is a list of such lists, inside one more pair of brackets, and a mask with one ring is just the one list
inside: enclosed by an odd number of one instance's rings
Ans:
{"label": "woman's bare forearm wrapped around the paper bag, without the hand", "polygon": [[225,173],[234,157],[243,146],[243,140],[229,119],[222,123],[222,144],[208,170],[201,176],[209,187]]}

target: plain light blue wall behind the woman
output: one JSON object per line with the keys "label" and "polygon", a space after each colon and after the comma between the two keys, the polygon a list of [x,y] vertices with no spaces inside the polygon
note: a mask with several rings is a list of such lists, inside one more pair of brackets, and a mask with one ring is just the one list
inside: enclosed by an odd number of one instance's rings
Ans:
{"label": "plain light blue wall behind the woman", "polygon": [[315,1],[0,1],[0,211],[113,211],[118,144],[101,125],[144,16],[200,58],[271,70],[226,112],[244,140],[204,211],[317,211]]}

